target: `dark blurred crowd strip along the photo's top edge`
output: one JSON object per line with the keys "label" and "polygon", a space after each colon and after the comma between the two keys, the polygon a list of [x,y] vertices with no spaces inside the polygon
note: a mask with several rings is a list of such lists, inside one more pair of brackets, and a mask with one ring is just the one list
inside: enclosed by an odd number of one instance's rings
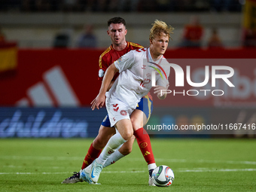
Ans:
{"label": "dark blurred crowd strip along the photo's top edge", "polygon": [[0,11],[241,11],[245,0],[0,0]]}

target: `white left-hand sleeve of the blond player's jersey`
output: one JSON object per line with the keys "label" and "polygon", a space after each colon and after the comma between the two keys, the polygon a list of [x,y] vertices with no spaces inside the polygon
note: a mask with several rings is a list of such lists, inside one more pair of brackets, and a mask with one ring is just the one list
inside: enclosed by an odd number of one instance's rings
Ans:
{"label": "white left-hand sleeve of the blond player's jersey", "polygon": [[124,54],[119,59],[114,62],[114,66],[118,69],[119,72],[122,72],[126,69],[130,69],[133,66],[135,60],[133,50]]}

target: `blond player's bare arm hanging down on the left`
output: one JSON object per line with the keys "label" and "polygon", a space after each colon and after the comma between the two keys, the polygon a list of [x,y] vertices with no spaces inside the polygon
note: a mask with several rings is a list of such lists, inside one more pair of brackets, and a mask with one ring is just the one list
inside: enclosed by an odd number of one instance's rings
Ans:
{"label": "blond player's bare arm hanging down on the left", "polygon": [[119,70],[116,68],[116,66],[114,66],[114,63],[112,63],[111,66],[108,67],[103,77],[102,86],[100,87],[99,94],[90,103],[92,105],[92,110],[94,110],[95,108],[102,108],[105,103],[105,93],[107,92],[108,87],[111,84],[111,80],[114,78],[114,74],[118,71]]}

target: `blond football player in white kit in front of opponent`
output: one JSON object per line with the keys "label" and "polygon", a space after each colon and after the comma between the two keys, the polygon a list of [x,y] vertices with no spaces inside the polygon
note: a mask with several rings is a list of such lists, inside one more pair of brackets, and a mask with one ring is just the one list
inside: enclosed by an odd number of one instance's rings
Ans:
{"label": "blond football player in white kit in front of opponent", "polygon": [[[82,170],[81,178],[84,181],[90,184],[97,183],[103,164],[108,157],[133,136],[130,114],[142,96],[151,90],[153,76],[157,84],[154,93],[157,93],[159,99],[166,98],[166,94],[162,93],[169,86],[169,65],[163,57],[163,53],[168,47],[172,30],[172,26],[156,20],[149,36],[150,47],[131,50],[112,63],[105,72],[99,94],[91,103],[92,109],[99,109],[106,102],[111,126],[115,126],[118,132],[109,139],[108,144],[91,166]],[[119,72],[120,75],[106,93],[116,72]],[[154,75],[155,72],[158,73]]]}

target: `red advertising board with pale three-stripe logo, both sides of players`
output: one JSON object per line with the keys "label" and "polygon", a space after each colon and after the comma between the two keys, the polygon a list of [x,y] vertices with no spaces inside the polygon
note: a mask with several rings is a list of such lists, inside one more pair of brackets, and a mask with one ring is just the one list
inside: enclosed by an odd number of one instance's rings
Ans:
{"label": "red advertising board with pale three-stripe logo, both sides of players", "polygon": [[[0,75],[0,105],[29,107],[90,105],[101,84],[97,80],[97,63],[101,51],[20,50],[17,72],[8,76]],[[169,90],[172,93],[168,96],[170,99],[166,99],[165,102],[154,99],[154,106],[255,105],[255,59],[172,59],[174,56],[192,56],[192,53],[197,58],[210,58],[215,53],[220,57],[224,57],[225,54],[227,57],[248,56],[252,58],[251,51],[167,50],[165,55],[166,58],[170,58],[169,62],[181,66],[184,72],[184,86],[175,86],[175,71],[171,69]],[[189,70],[187,66],[190,66]],[[206,66],[209,68],[207,69]],[[216,80],[215,87],[212,86],[212,67],[214,66],[228,66],[234,69],[233,76],[227,79],[235,87],[230,87],[221,79]],[[208,84],[203,87],[192,87],[187,83],[187,75],[190,75],[191,82],[202,83],[206,72],[209,72],[209,79]],[[215,96],[220,94],[223,96]]]}

